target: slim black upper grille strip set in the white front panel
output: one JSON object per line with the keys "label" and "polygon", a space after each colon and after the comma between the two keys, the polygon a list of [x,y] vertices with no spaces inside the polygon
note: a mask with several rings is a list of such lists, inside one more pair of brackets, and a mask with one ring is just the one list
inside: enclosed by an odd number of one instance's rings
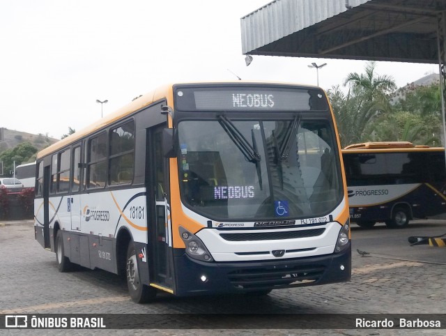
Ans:
{"label": "slim black upper grille strip set in the white front panel", "polygon": [[325,231],[324,228],[321,229],[309,229],[309,230],[299,230],[299,231],[276,231],[276,232],[260,232],[260,233],[249,233],[249,234],[220,234],[224,240],[229,241],[247,241],[247,240],[282,240],[282,239],[292,239],[292,238],[307,238],[321,236]]}

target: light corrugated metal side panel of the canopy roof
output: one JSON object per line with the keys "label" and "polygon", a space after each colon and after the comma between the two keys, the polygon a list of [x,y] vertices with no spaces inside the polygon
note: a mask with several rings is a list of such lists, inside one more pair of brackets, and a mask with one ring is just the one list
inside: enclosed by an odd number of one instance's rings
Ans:
{"label": "light corrugated metal side panel of the canopy roof", "polygon": [[318,22],[338,15],[350,6],[371,0],[275,0],[241,18],[242,52],[268,45]]}

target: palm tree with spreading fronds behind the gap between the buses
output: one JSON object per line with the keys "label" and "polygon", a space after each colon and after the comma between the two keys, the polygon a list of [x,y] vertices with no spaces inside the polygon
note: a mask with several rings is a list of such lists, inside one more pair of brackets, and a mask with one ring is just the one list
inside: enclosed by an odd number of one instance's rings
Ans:
{"label": "palm tree with spreading fronds behind the gap between the buses", "polygon": [[397,86],[392,77],[377,75],[375,67],[376,62],[371,61],[364,74],[348,74],[344,80],[348,93],[343,93],[339,86],[328,90],[343,147],[369,141],[371,122],[392,110],[387,95]]}

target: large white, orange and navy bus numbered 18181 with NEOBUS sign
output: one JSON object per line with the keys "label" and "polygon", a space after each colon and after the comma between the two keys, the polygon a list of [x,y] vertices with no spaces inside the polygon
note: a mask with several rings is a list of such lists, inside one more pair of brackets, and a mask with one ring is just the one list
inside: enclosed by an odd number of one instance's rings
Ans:
{"label": "large white, orange and navy bus numbered 18181 with NEOBUS sign", "polygon": [[171,84],[40,151],[35,236],[157,292],[266,295],[351,278],[341,148],[325,92]]}

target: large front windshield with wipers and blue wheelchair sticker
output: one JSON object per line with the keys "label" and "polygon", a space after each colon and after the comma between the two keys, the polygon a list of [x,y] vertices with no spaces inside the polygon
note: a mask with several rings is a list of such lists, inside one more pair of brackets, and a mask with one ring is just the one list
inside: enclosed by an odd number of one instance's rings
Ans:
{"label": "large front windshield with wipers and blue wheelchair sticker", "polygon": [[178,139],[183,203],[213,220],[320,217],[341,201],[328,121],[182,121]]}

